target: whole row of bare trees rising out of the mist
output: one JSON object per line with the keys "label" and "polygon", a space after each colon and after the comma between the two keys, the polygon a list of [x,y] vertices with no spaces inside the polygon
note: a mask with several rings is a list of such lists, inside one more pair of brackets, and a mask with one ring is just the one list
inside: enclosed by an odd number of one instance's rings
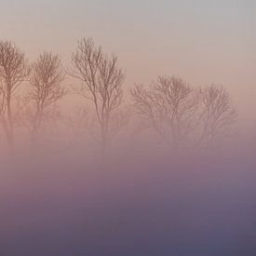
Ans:
{"label": "whole row of bare trees rising out of the mist", "polygon": [[[74,81],[72,86],[65,83],[68,77]],[[36,149],[46,127],[65,119],[74,133],[82,128],[85,136],[98,141],[102,155],[128,125],[143,134],[150,132],[168,144],[172,155],[179,155],[205,150],[218,138],[232,134],[236,120],[236,110],[222,85],[194,88],[182,78],[159,76],[151,85],[134,86],[124,97],[125,73],[117,56],[106,54],[90,38],[77,43],[67,67],[51,52],[30,63],[15,43],[1,41],[0,82],[1,134],[10,152],[19,132]],[[61,101],[68,94],[83,100],[71,117],[61,111]]]}

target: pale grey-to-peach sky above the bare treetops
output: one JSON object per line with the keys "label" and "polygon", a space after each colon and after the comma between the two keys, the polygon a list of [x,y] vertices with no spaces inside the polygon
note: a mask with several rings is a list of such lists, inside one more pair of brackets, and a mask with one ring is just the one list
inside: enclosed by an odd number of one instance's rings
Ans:
{"label": "pale grey-to-peach sky above the bare treetops", "polygon": [[254,0],[1,0],[0,33],[31,60],[52,50],[68,61],[78,39],[93,37],[118,53],[127,86],[158,74],[222,83],[253,123],[255,16]]}

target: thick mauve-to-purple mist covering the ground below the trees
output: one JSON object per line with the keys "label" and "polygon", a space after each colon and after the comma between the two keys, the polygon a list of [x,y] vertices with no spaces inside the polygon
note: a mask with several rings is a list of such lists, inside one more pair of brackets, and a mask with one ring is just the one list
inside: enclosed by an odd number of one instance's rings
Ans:
{"label": "thick mauve-to-purple mist covering the ground below the trees", "polygon": [[252,143],[177,163],[146,141],[2,159],[1,255],[254,255]]}

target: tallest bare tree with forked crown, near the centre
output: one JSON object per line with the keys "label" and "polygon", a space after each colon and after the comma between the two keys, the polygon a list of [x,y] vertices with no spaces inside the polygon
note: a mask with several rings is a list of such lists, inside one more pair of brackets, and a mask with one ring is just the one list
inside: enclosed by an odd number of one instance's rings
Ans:
{"label": "tallest bare tree with forked crown, near the centre", "polygon": [[71,75],[82,82],[74,91],[92,102],[100,125],[102,153],[105,153],[108,141],[121,127],[121,115],[116,113],[123,100],[125,74],[117,66],[117,56],[104,54],[91,38],[78,42],[72,63]]}

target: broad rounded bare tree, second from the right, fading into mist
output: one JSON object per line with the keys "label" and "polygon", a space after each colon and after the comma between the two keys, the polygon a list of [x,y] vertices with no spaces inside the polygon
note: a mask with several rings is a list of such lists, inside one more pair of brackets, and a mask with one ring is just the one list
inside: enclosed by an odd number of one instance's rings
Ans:
{"label": "broad rounded bare tree, second from the right, fading into mist", "polygon": [[178,155],[182,141],[195,127],[198,97],[181,78],[160,76],[149,88],[131,89],[135,111],[149,120],[151,127]]}

